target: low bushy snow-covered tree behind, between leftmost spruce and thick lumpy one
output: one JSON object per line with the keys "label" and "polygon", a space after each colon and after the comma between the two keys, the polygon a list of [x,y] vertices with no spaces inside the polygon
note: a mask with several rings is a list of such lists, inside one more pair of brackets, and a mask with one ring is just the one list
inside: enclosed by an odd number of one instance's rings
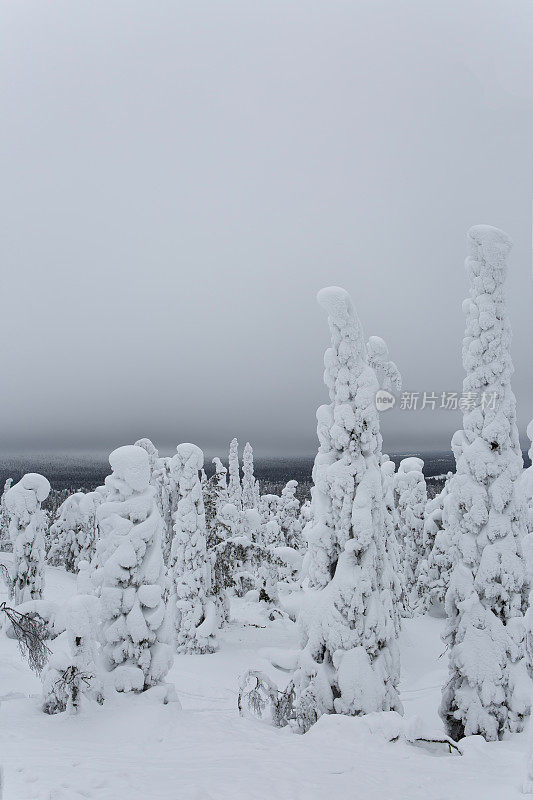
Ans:
{"label": "low bushy snow-covered tree behind, between leftmost spruce and thick lumpy one", "polygon": [[80,561],[90,561],[96,545],[95,514],[85,512],[84,498],[83,492],[67,497],[50,528],[48,561],[55,566],[62,564],[68,572],[77,572]]}

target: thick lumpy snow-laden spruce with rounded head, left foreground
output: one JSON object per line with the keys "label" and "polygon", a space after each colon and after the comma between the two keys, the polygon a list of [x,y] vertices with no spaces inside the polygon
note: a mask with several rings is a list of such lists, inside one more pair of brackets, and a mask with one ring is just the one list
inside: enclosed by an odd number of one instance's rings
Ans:
{"label": "thick lumpy snow-laden spruce with rounded head, left foreground", "polygon": [[109,494],[97,512],[102,537],[114,543],[102,568],[104,658],[118,691],[142,691],[162,682],[172,664],[163,523],[146,451],[119,447],[109,463]]}

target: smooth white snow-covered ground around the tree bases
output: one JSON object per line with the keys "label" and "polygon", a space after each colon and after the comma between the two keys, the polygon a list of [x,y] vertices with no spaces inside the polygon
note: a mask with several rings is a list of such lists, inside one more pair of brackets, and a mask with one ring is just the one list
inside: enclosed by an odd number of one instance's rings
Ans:
{"label": "smooth white snow-covered ground around the tree bases", "polygon": [[[6,554],[1,554],[6,560]],[[71,575],[46,571],[45,597],[64,602]],[[0,593],[0,600],[5,595]],[[237,711],[240,676],[276,675],[265,650],[293,648],[296,626],[237,601],[212,655],[176,656],[169,681],[182,708],[158,690],[113,695],[79,716],[47,716],[41,684],[16,643],[0,635],[0,763],[4,800],[503,800],[520,794],[527,735],[463,740],[460,756],[370,734],[360,719],[323,717],[304,736]],[[437,715],[446,656],[442,621],[407,620],[401,696],[408,717],[442,730]],[[286,674],[277,674],[279,682]]]}

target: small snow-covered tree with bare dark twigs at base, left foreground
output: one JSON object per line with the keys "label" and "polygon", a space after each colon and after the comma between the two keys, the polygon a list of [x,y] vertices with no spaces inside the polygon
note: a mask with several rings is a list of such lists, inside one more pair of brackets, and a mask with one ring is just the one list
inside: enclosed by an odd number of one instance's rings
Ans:
{"label": "small snow-covered tree with bare dark twigs at base, left foreground", "polygon": [[78,713],[82,697],[104,702],[97,662],[98,600],[75,595],[66,609],[69,652],[55,653],[43,674],[43,711]]}

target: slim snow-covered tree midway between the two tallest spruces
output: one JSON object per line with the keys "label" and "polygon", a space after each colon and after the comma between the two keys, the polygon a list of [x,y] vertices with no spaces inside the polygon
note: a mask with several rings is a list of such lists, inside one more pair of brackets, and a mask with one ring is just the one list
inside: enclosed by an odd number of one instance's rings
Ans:
{"label": "slim snow-covered tree midway between the two tallest spruces", "polygon": [[416,584],[420,563],[428,553],[424,545],[426,481],[421,458],[404,458],[394,476],[394,495],[398,510],[398,533],[403,552],[403,580],[411,608],[416,605]]}

